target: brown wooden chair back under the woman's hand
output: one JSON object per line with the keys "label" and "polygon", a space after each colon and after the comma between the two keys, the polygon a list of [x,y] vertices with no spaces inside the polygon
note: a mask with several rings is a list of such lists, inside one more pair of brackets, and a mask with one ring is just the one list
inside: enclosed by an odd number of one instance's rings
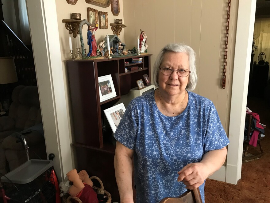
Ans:
{"label": "brown wooden chair back under the woman's hand", "polygon": [[187,190],[180,197],[165,197],[160,203],[202,203],[202,197],[199,188]]}

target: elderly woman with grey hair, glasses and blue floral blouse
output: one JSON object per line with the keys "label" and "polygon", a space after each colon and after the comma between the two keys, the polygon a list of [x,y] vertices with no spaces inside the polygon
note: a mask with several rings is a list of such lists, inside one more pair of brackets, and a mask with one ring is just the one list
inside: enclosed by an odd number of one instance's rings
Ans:
{"label": "elderly woman with grey hair, glasses and blue floral blouse", "polygon": [[154,64],[153,92],[133,99],[114,134],[114,168],[121,203],[159,202],[199,187],[224,163],[229,140],[212,101],[190,92],[197,83],[195,53],[168,44]]}

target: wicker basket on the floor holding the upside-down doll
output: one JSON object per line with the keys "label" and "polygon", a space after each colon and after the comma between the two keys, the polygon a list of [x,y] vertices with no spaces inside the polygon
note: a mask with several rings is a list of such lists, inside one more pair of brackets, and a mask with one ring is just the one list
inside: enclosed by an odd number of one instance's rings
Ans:
{"label": "wicker basket on the floor holding the upside-down doll", "polygon": [[[95,185],[93,185],[93,189],[95,190],[95,192],[96,193],[103,193],[103,191],[104,191],[104,195],[108,198],[108,200],[106,201],[106,203],[111,203],[112,202],[112,196],[111,196],[111,194],[109,193],[109,192],[107,192],[105,189],[104,189],[104,186],[103,186],[103,183],[102,183],[102,181],[98,178],[98,177],[96,177],[96,176],[92,176],[92,177],[90,177],[90,179],[92,180],[92,179],[96,179],[98,182],[99,182],[99,184],[100,184],[100,188],[99,187],[97,187],[97,186],[95,186]],[[74,201],[72,201],[72,200],[74,200]],[[69,195],[65,195],[63,198],[62,198],[62,201],[64,202],[64,203],[72,203],[72,202],[75,202],[75,203],[83,203],[78,197],[73,197],[73,196],[69,196]]]}

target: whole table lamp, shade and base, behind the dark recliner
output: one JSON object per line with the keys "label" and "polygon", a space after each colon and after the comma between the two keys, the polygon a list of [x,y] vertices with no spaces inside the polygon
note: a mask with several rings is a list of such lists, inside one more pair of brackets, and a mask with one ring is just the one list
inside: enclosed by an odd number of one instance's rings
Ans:
{"label": "whole table lamp, shade and base, behind the dark recliner", "polygon": [[[18,78],[16,73],[16,67],[14,64],[14,59],[12,57],[0,57],[0,84],[9,84],[17,81]],[[2,94],[7,95],[8,92],[9,92],[8,87],[2,86]],[[5,98],[6,95],[2,95],[3,98]],[[8,110],[8,104],[6,103],[6,101],[4,101],[3,103],[3,109]],[[0,102],[0,112],[1,111],[2,105]],[[3,115],[3,113],[6,112],[1,112],[0,114]]]}

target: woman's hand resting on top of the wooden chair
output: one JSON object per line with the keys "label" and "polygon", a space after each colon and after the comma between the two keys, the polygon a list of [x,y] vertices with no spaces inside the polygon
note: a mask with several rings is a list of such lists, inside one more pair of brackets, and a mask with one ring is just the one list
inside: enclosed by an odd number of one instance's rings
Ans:
{"label": "woman's hand resting on top of the wooden chair", "polygon": [[182,181],[187,189],[198,188],[208,177],[207,167],[203,163],[188,164],[178,174],[177,181]]}

